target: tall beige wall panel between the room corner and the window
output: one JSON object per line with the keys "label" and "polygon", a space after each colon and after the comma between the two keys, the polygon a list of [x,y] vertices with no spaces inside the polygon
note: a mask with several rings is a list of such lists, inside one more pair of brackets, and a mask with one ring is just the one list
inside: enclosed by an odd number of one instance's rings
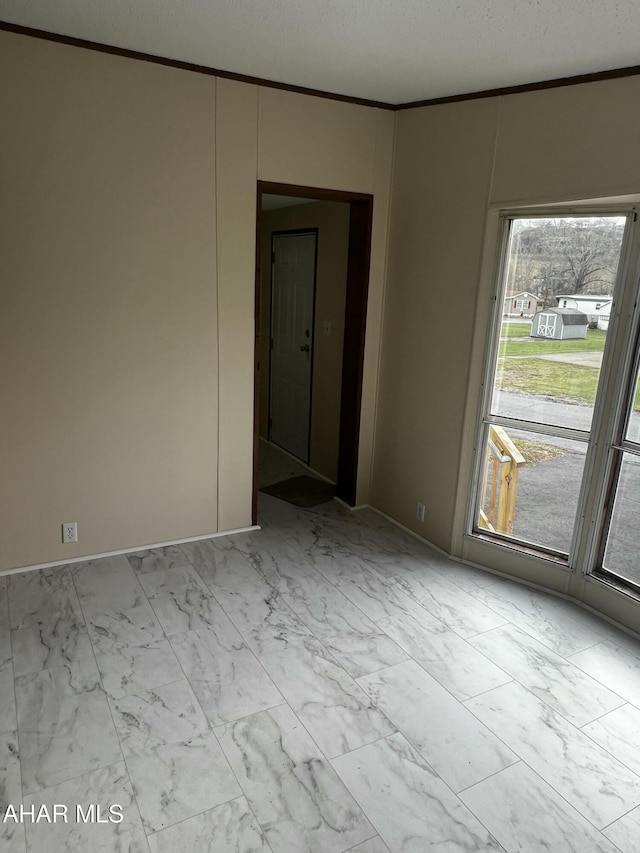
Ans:
{"label": "tall beige wall panel between the room corner and the window", "polygon": [[410,110],[397,128],[372,495],[446,550],[496,113],[495,100]]}

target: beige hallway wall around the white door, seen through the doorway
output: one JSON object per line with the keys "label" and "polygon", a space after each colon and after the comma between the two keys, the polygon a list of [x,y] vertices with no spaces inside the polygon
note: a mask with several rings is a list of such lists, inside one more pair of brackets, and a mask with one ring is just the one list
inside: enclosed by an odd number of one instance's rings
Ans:
{"label": "beige hallway wall around the white door, seen through the doorway", "polygon": [[[335,482],[349,248],[349,205],[344,202],[301,204],[262,214],[260,433],[265,437],[268,433],[271,237],[274,231],[299,228],[318,229],[309,465]],[[331,322],[329,337],[322,334],[323,320]]]}

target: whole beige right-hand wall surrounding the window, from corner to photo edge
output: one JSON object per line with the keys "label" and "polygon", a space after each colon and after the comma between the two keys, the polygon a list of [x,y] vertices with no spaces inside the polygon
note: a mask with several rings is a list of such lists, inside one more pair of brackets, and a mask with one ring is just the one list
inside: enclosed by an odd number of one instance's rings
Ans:
{"label": "whole beige right-hand wall surrounding the window, from corner to photo edge", "polygon": [[464,519],[497,211],[638,193],[639,98],[633,77],[398,115],[372,489],[377,506],[446,550],[575,595],[636,630],[627,599],[465,538]]}

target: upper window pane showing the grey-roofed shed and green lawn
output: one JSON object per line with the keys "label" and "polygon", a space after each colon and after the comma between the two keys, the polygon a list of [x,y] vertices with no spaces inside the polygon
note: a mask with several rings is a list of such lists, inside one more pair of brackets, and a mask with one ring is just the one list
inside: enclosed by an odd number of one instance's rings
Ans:
{"label": "upper window pane showing the grey-roofed shed and green lawn", "polygon": [[513,220],[492,414],[590,429],[624,225]]}

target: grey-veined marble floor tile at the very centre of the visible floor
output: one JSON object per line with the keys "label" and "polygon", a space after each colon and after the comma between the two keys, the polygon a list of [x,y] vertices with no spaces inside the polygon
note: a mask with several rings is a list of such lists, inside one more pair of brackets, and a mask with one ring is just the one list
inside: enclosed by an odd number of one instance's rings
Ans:
{"label": "grey-veined marble floor tile at the very centre of the visible floor", "polygon": [[262,663],[327,757],[395,731],[315,638],[265,655]]}

